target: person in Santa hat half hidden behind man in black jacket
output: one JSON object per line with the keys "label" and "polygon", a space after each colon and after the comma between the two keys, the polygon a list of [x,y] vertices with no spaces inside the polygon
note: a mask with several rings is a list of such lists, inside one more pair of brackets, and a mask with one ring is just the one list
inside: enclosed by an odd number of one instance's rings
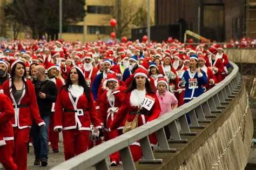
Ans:
{"label": "person in Santa hat half hidden behind man in black jacket", "polygon": [[[56,84],[57,90],[63,86],[62,80],[56,77],[57,74],[57,66],[54,63],[48,63],[46,65],[46,71],[48,73],[49,80],[53,81]],[[52,151],[55,153],[59,152],[59,133],[53,131],[53,123],[54,123],[54,112],[55,112],[55,103],[52,104],[52,116],[49,126],[49,142],[51,142]]]}

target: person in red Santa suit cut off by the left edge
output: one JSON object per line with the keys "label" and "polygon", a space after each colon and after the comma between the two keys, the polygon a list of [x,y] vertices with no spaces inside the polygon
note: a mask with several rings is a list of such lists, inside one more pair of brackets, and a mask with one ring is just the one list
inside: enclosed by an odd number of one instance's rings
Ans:
{"label": "person in red Santa suit cut off by the left edge", "polygon": [[5,169],[17,169],[12,153],[14,152],[14,131],[11,119],[14,118],[11,100],[0,89],[0,163]]}

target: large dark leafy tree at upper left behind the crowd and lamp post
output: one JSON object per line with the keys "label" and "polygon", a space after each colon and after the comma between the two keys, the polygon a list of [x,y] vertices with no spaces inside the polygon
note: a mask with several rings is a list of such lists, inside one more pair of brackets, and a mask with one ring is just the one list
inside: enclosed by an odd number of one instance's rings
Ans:
{"label": "large dark leafy tree at upper left behind the crowd and lamp post", "polygon": [[[83,21],[86,11],[84,0],[63,0],[63,28]],[[48,39],[57,39],[59,31],[59,0],[14,0],[5,6],[5,16],[10,22],[28,26],[32,38],[45,33]]]}

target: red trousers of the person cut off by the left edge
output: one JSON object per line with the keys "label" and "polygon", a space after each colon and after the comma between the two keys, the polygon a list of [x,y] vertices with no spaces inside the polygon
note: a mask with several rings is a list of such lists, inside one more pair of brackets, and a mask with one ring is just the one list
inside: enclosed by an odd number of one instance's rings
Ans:
{"label": "red trousers of the person cut off by the left edge", "polygon": [[0,146],[0,162],[3,164],[5,169],[17,169],[14,159],[12,159],[12,153],[14,152],[14,141],[7,140],[5,142],[6,145]]}

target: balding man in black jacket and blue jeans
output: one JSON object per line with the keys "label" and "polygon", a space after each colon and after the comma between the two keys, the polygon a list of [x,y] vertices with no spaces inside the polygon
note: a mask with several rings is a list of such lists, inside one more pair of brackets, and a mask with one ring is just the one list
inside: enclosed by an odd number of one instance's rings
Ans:
{"label": "balding man in black jacket and blue jeans", "polygon": [[45,69],[42,65],[38,65],[34,69],[35,77],[33,84],[35,86],[37,104],[41,118],[45,122],[44,127],[39,127],[33,123],[31,127],[31,134],[33,139],[33,146],[35,152],[34,165],[47,166],[48,165],[48,128],[50,125],[50,118],[52,114],[53,103],[56,101],[57,88],[55,83],[48,80],[45,76]]}

